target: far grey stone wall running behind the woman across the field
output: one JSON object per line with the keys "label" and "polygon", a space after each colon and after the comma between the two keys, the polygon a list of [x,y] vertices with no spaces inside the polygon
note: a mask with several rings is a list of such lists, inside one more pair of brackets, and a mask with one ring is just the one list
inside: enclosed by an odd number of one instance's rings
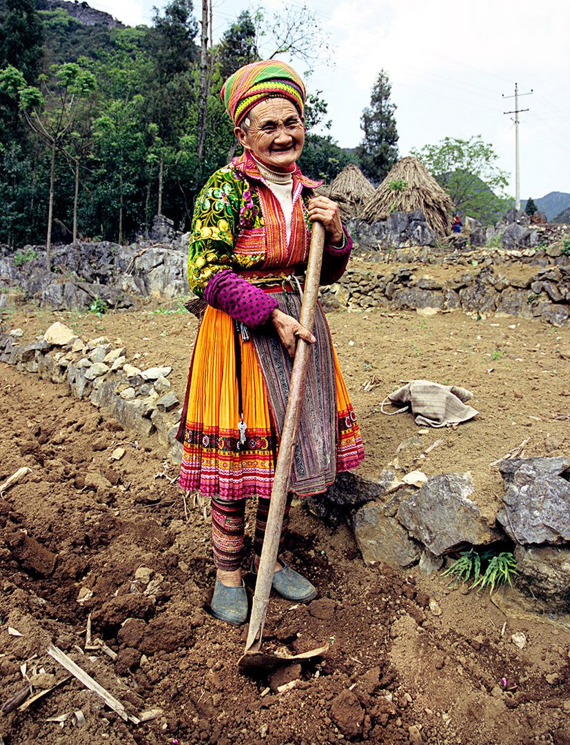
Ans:
{"label": "far grey stone wall running behind the woman across the field", "polygon": [[[406,226],[400,226],[402,230],[398,232],[403,238],[400,244],[409,243],[412,238],[419,241],[420,233],[427,240],[420,227],[424,223],[419,218],[414,221],[414,215],[394,213],[385,221],[387,225],[406,218]],[[380,307],[429,314],[461,309],[481,315],[499,312],[542,317],[557,326],[567,322],[570,248],[566,240],[570,246],[570,234],[568,239],[559,237],[551,244],[522,250],[473,248],[471,244],[464,245],[464,235],[445,245],[382,249],[374,233],[379,225],[351,223],[356,242],[349,269],[339,283],[321,291],[328,311]],[[533,228],[550,230],[553,226]],[[559,228],[566,230],[568,226],[554,226]],[[106,241],[77,241],[57,247],[52,253],[51,271],[45,269],[40,247],[24,247],[24,256],[26,252],[33,255],[32,249],[38,256],[23,262],[0,252],[0,289],[19,288],[25,298],[40,305],[74,311],[89,310],[97,299],[109,308],[129,308],[149,297],[188,297],[188,235],[176,238],[162,223],[157,223],[156,230],[157,235],[166,236],[166,242],[119,246]],[[537,270],[521,273],[521,265],[536,266]],[[438,279],[430,275],[430,267],[434,266],[455,267],[455,272]],[[0,294],[0,307],[5,302],[4,294]]]}

